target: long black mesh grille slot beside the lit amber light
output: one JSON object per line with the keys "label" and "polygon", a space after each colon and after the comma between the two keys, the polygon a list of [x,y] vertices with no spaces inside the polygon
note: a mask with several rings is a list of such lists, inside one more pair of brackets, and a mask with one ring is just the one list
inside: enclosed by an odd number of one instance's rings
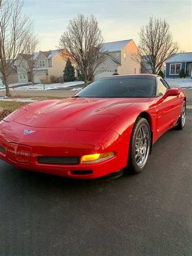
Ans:
{"label": "long black mesh grille slot beside the lit amber light", "polygon": [[40,157],[38,162],[41,164],[78,164],[78,157]]}

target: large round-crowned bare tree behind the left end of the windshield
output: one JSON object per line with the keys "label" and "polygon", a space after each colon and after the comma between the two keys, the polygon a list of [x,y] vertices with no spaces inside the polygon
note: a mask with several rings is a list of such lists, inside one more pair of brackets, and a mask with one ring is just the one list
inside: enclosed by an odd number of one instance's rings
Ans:
{"label": "large round-crowned bare tree behind the left end of the windshield", "polygon": [[85,17],[78,14],[77,17],[69,21],[67,30],[60,38],[61,56],[64,60],[68,58],[78,64],[81,72],[84,74],[85,86],[87,86],[88,68],[92,66],[93,70],[98,66],[100,57],[100,48],[102,47],[103,37],[98,26],[98,21],[91,15]]}

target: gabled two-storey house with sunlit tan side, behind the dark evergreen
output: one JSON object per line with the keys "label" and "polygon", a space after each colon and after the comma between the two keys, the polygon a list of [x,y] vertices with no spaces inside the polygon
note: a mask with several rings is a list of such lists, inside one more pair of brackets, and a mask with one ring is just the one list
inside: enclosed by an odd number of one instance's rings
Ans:
{"label": "gabled two-storey house with sunlit tan side, behind the dark evergreen", "polygon": [[29,54],[19,54],[17,58],[18,80],[21,83],[31,81],[30,74],[28,72],[29,59],[33,61],[34,65],[34,83],[41,83],[41,80],[51,75],[55,77],[63,76],[63,70],[66,65],[60,56],[60,50],[53,51],[39,51],[34,53],[34,56]]}

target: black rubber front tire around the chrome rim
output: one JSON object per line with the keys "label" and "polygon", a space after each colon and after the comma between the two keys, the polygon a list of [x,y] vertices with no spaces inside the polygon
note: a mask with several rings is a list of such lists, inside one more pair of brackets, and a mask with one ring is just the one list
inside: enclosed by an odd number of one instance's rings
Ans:
{"label": "black rubber front tire around the chrome rim", "polygon": [[[136,137],[138,136],[138,132],[140,132],[140,128],[148,128],[148,143],[147,143],[147,154],[146,154],[146,160],[145,163],[143,164],[143,166],[138,166],[137,161],[136,161],[136,155],[137,155],[137,150],[141,150],[141,142],[139,142],[139,149],[136,149]],[[142,130],[141,128],[141,130]],[[138,141],[138,139],[137,139]],[[126,166],[126,171],[128,171],[129,173],[141,173],[143,171],[143,169],[145,168],[146,164],[147,164],[147,159],[149,157],[149,152],[150,152],[150,142],[151,142],[151,132],[150,132],[150,128],[149,128],[149,123],[147,122],[147,120],[143,117],[137,117],[133,129],[132,129],[132,133],[131,133],[131,137],[130,137],[130,144],[129,144],[129,154],[128,154],[128,162],[127,162],[127,166]],[[143,143],[143,142],[142,142]],[[137,144],[138,147],[138,144]],[[143,153],[138,153],[141,154],[143,156]],[[138,157],[139,158],[139,157]]]}

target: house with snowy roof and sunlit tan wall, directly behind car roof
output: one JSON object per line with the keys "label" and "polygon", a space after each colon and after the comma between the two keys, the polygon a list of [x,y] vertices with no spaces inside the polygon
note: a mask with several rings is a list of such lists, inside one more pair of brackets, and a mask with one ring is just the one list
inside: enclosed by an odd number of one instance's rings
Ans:
{"label": "house with snowy roof and sunlit tan wall, directly behind car roof", "polygon": [[132,39],[103,43],[102,51],[106,52],[107,58],[96,70],[95,80],[101,77],[109,77],[113,73],[119,75],[129,75],[141,73],[139,63],[131,59],[133,52],[138,52],[138,48]]}

